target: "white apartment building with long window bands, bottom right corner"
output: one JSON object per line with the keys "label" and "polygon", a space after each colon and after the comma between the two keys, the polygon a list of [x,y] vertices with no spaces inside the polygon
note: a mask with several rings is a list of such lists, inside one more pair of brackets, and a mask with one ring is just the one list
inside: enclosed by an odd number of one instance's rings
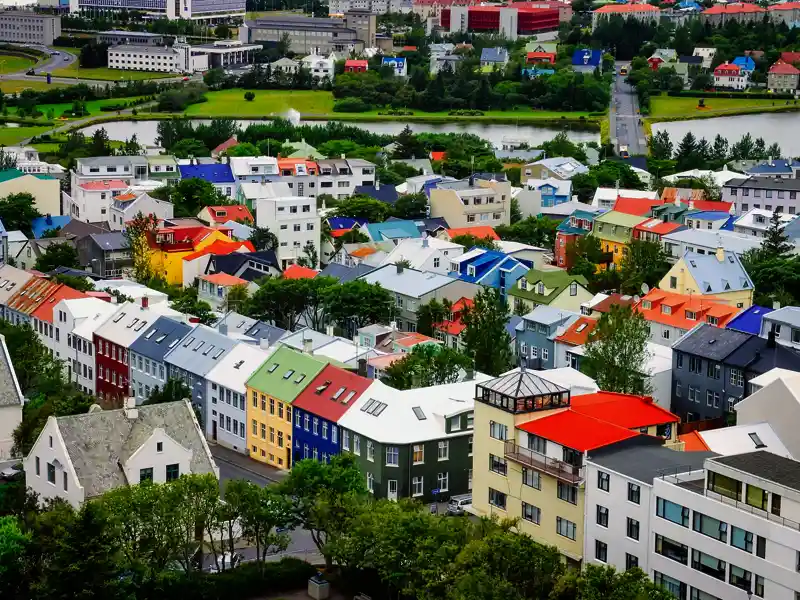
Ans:
{"label": "white apartment building with long window bands, bottom right corner", "polygon": [[678,598],[795,600],[800,463],[766,450],[653,481],[650,574]]}

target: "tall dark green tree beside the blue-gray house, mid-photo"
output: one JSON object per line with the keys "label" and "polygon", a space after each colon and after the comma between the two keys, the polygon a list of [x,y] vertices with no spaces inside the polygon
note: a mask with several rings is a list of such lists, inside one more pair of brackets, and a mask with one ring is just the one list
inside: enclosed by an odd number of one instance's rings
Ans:
{"label": "tall dark green tree beside the blue-gray house, mid-photo", "polygon": [[464,352],[481,373],[500,375],[512,364],[511,336],[506,331],[508,304],[497,288],[483,288],[461,315]]}

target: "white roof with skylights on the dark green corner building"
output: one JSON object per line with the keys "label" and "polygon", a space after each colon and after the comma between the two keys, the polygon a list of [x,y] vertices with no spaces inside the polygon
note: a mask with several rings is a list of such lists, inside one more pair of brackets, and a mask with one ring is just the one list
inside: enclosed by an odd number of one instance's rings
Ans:
{"label": "white roof with skylights on the dark green corner building", "polygon": [[473,410],[475,384],[489,379],[488,375],[476,373],[475,379],[469,381],[412,390],[396,390],[375,381],[339,419],[339,425],[382,444],[410,444],[469,434],[470,429],[447,434],[446,419]]}

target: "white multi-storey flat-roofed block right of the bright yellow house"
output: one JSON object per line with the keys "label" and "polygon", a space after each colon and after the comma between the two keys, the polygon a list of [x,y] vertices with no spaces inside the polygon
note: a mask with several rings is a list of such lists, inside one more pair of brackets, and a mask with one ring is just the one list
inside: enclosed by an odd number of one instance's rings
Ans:
{"label": "white multi-storey flat-roofed block right of the bright yellow house", "polygon": [[303,247],[314,244],[319,252],[321,219],[313,198],[289,196],[257,201],[256,225],[268,227],[278,237],[278,261],[281,269],[303,255]]}

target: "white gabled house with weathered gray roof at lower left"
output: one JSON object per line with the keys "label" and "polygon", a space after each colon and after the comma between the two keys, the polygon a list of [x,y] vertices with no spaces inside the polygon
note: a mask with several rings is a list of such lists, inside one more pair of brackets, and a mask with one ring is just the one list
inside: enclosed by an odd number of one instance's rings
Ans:
{"label": "white gabled house with weathered gray roof at lower left", "polygon": [[219,477],[185,400],[139,408],[48,417],[23,461],[27,486],[41,501],[74,508],[120,487],[165,483],[182,474]]}

